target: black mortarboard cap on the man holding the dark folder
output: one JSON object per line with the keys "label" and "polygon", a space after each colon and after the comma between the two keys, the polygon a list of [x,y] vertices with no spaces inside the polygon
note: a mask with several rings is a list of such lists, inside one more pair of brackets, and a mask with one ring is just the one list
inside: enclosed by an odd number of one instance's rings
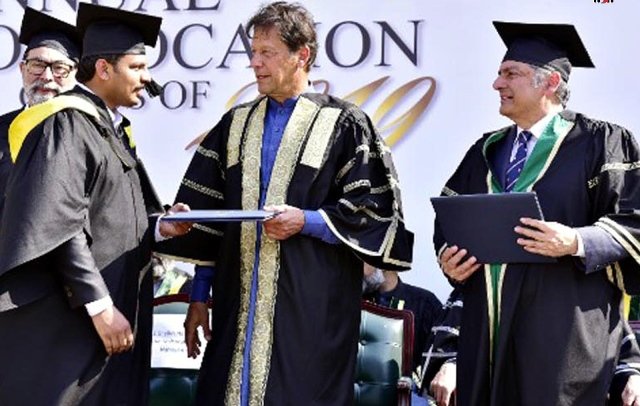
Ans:
{"label": "black mortarboard cap on the man holding the dark folder", "polygon": [[546,67],[569,80],[571,67],[593,68],[578,31],[571,24],[527,24],[494,21],[507,46],[503,61],[524,62]]}

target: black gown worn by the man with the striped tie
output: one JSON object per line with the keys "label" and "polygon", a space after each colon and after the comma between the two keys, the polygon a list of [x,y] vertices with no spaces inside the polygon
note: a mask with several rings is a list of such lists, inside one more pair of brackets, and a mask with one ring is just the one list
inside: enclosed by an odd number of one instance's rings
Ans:
{"label": "black gown worn by the man with the striped tie", "polygon": [[[565,111],[561,117],[571,126],[533,184],[545,219],[581,227],[640,207],[640,156],[633,135],[577,113]],[[500,130],[509,131],[514,127]],[[485,155],[483,147],[494,135],[485,134],[471,147],[444,194],[487,193],[488,162],[495,159],[495,150],[488,148]],[[437,221],[434,244],[436,250],[445,244]],[[465,303],[458,404],[603,404],[622,334],[619,288],[628,287],[622,275],[637,275],[638,263],[599,264],[598,269],[585,270],[580,260],[564,257],[554,264],[508,265],[495,343],[490,326],[496,315],[486,268],[461,286]]]}

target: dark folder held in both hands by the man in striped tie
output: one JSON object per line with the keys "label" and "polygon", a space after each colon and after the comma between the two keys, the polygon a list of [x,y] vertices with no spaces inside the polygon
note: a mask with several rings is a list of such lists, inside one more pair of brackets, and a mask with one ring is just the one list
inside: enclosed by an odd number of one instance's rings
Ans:
{"label": "dark folder held in both hands by the man in striped tie", "polygon": [[465,248],[480,263],[556,261],[516,242],[521,217],[544,220],[535,192],[432,197],[431,204],[447,243]]}

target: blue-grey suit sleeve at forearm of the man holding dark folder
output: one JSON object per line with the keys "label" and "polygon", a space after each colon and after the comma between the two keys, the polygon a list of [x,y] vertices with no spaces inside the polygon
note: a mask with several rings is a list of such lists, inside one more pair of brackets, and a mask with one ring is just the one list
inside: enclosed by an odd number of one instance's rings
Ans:
{"label": "blue-grey suit sleeve at forearm of the man holding dark folder", "polygon": [[600,227],[580,227],[577,231],[584,243],[586,273],[604,269],[629,255],[622,245]]}

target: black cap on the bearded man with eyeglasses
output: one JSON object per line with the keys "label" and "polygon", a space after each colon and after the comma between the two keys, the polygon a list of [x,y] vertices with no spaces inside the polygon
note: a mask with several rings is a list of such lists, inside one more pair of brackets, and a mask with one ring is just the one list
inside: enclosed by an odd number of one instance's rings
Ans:
{"label": "black cap on the bearded man with eyeglasses", "polygon": [[80,59],[80,34],[71,24],[27,7],[22,16],[19,41],[27,51],[47,47],[74,61]]}

